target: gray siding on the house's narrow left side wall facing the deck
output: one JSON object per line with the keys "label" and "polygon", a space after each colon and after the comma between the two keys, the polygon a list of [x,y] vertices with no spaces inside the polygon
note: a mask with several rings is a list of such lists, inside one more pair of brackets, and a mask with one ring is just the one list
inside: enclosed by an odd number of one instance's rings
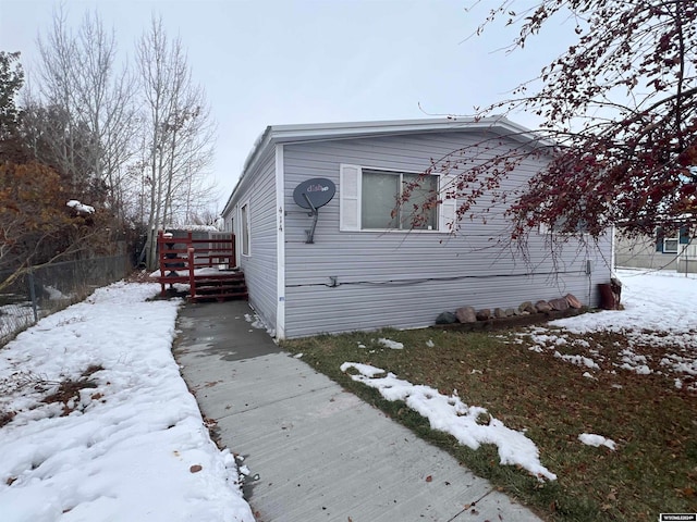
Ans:
{"label": "gray siding on the house's narrow left side wall facing the deck", "polygon": [[[278,252],[276,233],[276,152],[273,149],[246,173],[235,189],[232,208],[249,201],[249,257],[240,256],[249,304],[265,323],[276,328]],[[235,222],[240,223],[239,215]],[[241,224],[241,223],[240,223]],[[236,248],[242,248],[237,238]]]}

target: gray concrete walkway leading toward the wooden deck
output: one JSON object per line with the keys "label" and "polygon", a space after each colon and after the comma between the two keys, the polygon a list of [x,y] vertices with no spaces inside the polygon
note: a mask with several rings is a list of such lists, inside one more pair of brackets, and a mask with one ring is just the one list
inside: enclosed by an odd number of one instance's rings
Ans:
{"label": "gray concrete walkway leading toward the wooden deck", "polygon": [[246,492],[259,522],[540,520],[245,314],[245,301],[186,304],[174,355],[221,444],[260,475]]}

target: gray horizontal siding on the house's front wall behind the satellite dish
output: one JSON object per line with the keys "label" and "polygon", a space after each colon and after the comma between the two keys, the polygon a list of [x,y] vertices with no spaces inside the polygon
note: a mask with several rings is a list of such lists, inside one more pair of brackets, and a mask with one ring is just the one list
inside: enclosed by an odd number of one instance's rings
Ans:
{"label": "gray horizontal siding on the house's front wall behind the satellite dish", "polygon": [[[609,281],[609,238],[601,241],[599,251],[579,249],[572,241],[557,253],[554,265],[546,236],[530,238],[527,259],[512,249],[502,213],[496,209],[486,224],[463,222],[456,237],[432,232],[339,231],[342,163],[420,172],[431,159],[479,138],[449,132],[284,146],[286,337],[427,326],[440,312],[462,306],[509,308],[565,294],[598,303],[597,283]],[[523,186],[539,166],[523,165],[505,188]],[[315,244],[308,245],[304,231],[311,217],[295,206],[292,192],[311,177],[333,181],[337,196],[319,210]],[[328,286],[332,276],[338,277],[338,287]]]}

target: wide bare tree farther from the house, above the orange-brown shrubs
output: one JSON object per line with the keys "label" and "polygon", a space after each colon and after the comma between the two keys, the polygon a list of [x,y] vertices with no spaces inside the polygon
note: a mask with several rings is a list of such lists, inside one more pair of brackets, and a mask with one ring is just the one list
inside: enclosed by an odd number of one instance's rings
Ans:
{"label": "wide bare tree farther from the house, above the orange-brown shrubs", "polygon": [[[89,12],[72,34],[65,12],[59,8],[46,40],[39,38],[39,50],[41,100],[27,100],[27,112],[44,105],[63,115],[65,139],[45,144],[48,151],[60,170],[71,174],[73,184],[105,186],[107,203],[122,219],[136,120],[134,80],[125,65],[121,70],[115,65],[115,35]],[[82,139],[76,141],[78,135]]]}

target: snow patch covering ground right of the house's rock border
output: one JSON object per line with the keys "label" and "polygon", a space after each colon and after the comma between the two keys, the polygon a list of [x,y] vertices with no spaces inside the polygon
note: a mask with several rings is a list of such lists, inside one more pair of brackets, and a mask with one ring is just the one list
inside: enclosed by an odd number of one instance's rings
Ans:
{"label": "snow patch covering ground right of the house's rock border", "polygon": [[[675,272],[619,270],[624,310],[586,313],[528,328],[530,350],[594,371],[631,371],[638,375],[669,374],[675,387],[697,391],[697,277]],[[617,346],[619,362],[608,368],[607,353],[594,334],[624,334],[628,347]],[[574,338],[568,334],[583,335]],[[560,353],[560,347],[567,353]],[[582,353],[573,353],[579,351]],[[568,353],[571,352],[571,353]],[[657,356],[656,353],[660,353]]]}

